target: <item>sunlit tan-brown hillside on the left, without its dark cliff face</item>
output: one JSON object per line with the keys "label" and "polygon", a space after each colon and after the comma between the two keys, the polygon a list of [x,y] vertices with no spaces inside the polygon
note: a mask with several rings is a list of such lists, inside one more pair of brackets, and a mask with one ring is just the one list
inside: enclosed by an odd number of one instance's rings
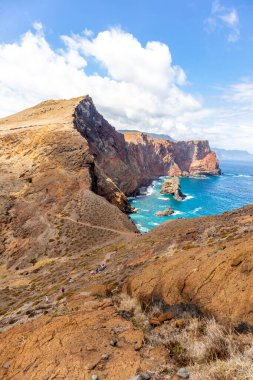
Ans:
{"label": "sunlit tan-brown hillside on the left, without its dark cliff face", "polygon": [[[0,122],[2,265],[75,254],[135,231],[126,215],[94,193],[94,157],[73,126],[79,102],[44,102]],[[91,227],[80,236],[80,226],[64,216]]]}

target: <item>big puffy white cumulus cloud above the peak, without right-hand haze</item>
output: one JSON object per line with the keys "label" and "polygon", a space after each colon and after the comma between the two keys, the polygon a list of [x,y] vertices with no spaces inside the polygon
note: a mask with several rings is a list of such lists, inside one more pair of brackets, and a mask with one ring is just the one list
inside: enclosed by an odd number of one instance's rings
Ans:
{"label": "big puffy white cumulus cloud above the peak, without right-hand haze", "polygon": [[[131,34],[111,29],[92,37],[62,36],[53,50],[40,23],[20,41],[0,45],[1,115],[41,100],[89,93],[105,116],[119,128],[161,128],[161,120],[176,129],[186,113],[189,124],[202,106],[190,93],[183,69],[173,65],[167,45],[142,46]],[[94,61],[105,75],[88,75]],[[91,70],[89,70],[90,72]]]}

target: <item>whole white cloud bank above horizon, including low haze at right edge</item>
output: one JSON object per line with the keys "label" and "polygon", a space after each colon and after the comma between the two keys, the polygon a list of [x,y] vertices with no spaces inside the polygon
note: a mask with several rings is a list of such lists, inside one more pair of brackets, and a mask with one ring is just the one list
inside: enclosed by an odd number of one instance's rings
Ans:
{"label": "whole white cloud bank above horizon, including low haze at right edge", "polygon": [[186,75],[161,42],[143,46],[116,28],[96,36],[90,31],[62,36],[63,46],[56,50],[42,25],[34,27],[19,41],[0,44],[1,116],[50,98],[90,94],[118,129],[209,139],[213,146],[253,151],[252,82],[229,86],[217,96],[219,106],[206,108],[185,90],[190,88]]}

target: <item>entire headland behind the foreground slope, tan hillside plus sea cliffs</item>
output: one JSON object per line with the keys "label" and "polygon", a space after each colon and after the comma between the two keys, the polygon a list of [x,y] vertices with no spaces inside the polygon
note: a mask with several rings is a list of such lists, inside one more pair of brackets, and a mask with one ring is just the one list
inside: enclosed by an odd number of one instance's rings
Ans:
{"label": "entire headland behind the foreground slope, tan hillside plus sea cliffs", "polygon": [[[72,243],[65,246],[70,220],[106,227],[104,240],[118,230],[133,232],[131,221],[111,204],[131,211],[126,195],[155,176],[219,173],[207,142],[123,135],[89,96],[46,101],[1,119],[0,139],[0,249],[7,252],[8,266],[22,261],[24,252],[33,260],[78,251],[78,225],[69,230]],[[87,231],[83,244],[89,248],[97,237],[96,230]]]}

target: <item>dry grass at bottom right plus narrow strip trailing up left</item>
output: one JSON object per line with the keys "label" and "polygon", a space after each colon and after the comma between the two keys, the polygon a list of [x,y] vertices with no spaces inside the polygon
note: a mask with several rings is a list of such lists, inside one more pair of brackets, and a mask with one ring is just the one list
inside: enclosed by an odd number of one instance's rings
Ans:
{"label": "dry grass at bottom right plus narrow strip trailing up left", "polygon": [[[146,345],[163,345],[168,350],[166,368],[153,373],[157,379],[170,379],[171,369],[187,366],[192,380],[252,380],[253,343],[250,336],[238,336],[215,319],[190,318],[182,328],[173,321],[151,328],[138,300],[126,294],[115,296],[119,312],[125,312],[134,325],[145,332]],[[149,309],[157,316],[159,308]],[[162,376],[162,377],[161,377]]]}

